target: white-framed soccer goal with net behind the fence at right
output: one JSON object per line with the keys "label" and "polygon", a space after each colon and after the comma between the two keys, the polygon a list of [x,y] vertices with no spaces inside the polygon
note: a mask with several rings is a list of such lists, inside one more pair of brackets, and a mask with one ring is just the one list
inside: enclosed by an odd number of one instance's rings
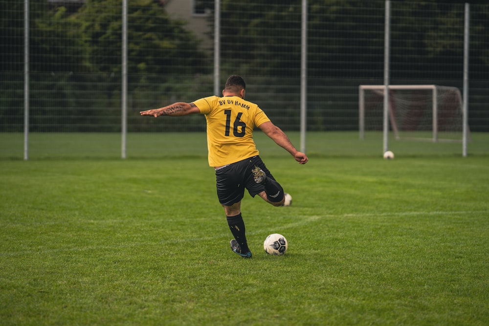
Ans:
{"label": "white-framed soccer goal with net behind the fence at right", "polygon": [[[359,131],[383,128],[383,85],[360,85]],[[463,102],[457,87],[390,85],[389,128],[396,139],[462,141]]]}

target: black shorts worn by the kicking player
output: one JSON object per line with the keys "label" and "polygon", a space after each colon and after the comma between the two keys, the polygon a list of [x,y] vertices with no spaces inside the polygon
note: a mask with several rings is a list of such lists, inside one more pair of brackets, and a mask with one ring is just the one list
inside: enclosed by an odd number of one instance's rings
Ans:
{"label": "black shorts worn by the kicking player", "polygon": [[253,179],[251,170],[256,166],[267,174],[267,178],[275,180],[258,155],[216,170],[217,196],[222,205],[231,206],[239,202],[244,197],[245,188],[252,197],[265,191],[263,185]]}

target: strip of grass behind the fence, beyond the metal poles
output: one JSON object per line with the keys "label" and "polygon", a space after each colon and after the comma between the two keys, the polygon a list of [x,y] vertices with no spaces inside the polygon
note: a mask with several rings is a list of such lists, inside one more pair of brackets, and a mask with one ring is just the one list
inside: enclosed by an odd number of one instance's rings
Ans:
{"label": "strip of grass behind the fence, beyond the metal poles", "polygon": [[[287,133],[300,147],[299,132]],[[428,135],[427,135],[428,137]],[[29,134],[29,159],[120,158],[121,135],[118,133],[36,133]],[[391,136],[391,138],[393,138]],[[286,157],[287,153],[263,133],[255,133],[255,141],[262,154]],[[22,133],[0,133],[0,160],[23,159]],[[381,157],[382,133],[367,132],[359,140],[358,132],[308,132],[306,150],[310,156],[320,157]],[[205,157],[205,133],[129,133],[128,158]],[[399,157],[462,156],[461,142],[389,140],[389,149]],[[469,156],[489,155],[489,133],[470,135]]]}

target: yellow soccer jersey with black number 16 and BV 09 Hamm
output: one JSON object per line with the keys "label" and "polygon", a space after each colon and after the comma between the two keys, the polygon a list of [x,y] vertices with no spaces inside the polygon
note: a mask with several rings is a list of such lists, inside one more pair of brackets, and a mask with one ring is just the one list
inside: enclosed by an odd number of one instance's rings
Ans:
{"label": "yellow soccer jersey with black number 16 and BV 09 Hamm", "polygon": [[253,129],[270,121],[256,104],[238,96],[209,96],[194,101],[207,120],[209,165],[216,167],[258,155]]}

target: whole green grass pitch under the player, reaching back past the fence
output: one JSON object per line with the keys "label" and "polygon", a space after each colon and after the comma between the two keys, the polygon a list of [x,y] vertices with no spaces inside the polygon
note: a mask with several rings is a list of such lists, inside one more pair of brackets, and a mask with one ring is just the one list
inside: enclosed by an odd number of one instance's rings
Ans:
{"label": "whole green grass pitch under the player, reaching back past the fence", "polygon": [[304,166],[257,139],[293,203],[245,195],[251,260],[229,248],[205,138],[131,135],[121,160],[118,136],[33,135],[23,161],[11,136],[0,325],[489,325],[485,134],[465,158],[393,142],[392,161],[378,139],[313,134]]}

